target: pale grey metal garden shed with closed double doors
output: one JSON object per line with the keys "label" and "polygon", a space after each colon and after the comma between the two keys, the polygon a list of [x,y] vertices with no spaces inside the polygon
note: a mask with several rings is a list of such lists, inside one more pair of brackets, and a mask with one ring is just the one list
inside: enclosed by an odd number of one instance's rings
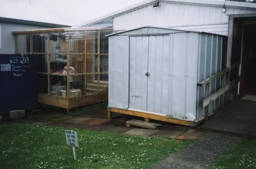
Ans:
{"label": "pale grey metal garden shed with closed double doors", "polygon": [[[225,39],[160,27],[110,35],[109,107],[187,121],[203,119],[205,87],[197,87],[197,82],[221,70]],[[220,79],[211,83],[211,93],[219,88]],[[211,113],[218,109],[217,99]]]}

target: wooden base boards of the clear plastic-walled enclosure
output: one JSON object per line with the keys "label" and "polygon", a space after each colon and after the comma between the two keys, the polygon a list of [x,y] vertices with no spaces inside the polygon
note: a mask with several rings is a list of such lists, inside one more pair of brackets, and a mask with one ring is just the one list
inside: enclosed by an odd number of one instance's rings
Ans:
{"label": "wooden base boards of the clear plastic-walled enclosure", "polygon": [[92,94],[88,96],[80,97],[60,97],[55,95],[47,95],[44,93],[38,93],[38,103],[50,106],[56,106],[58,108],[64,108],[68,110],[80,107],[91,105],[95,103],[100,103],[103,101],[108,101],[108,94]]}

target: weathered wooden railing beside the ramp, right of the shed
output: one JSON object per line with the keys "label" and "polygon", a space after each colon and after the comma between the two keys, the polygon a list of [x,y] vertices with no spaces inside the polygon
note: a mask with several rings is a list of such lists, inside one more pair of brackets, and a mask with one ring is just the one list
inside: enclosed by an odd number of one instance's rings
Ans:
{"label": "weathered wooden railing beside the ramp, right of the shed", "polygon": [[[224,106],[224,94],[231,88],[233,88],[237,82],[239,81],[239,77],[233,79],[230,81],[229,79],[226,79],[227,77],[230,77],[230,71],[237,67],[239,64],[233,64],[230,68],[226,68],[206,79],[203,81],[200,81],[197,83],[197,86],[204,86],[206,87],[205,90],[205,97],[202,101],[202,108],[204,108],[204,122],[208,120],[209,113],[210,113],[210,103],[214,101],[215,99],[221,97],[221,108]],[[215,93],[211,94],[210,86],[211,81],[221,76],[221,89],[217,90]]]}

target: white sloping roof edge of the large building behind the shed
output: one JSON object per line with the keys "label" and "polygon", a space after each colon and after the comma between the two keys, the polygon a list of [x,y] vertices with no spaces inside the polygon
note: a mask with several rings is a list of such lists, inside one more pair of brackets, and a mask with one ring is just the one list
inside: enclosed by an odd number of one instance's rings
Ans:
{"label": "white sloping roof edge of the large building behind the shed", "polygon": [[137,3],[135,5],[118,10],[116,12],[83,22],[78,25],[75,25],[74,27],[89,26],[91,24],[98,23],[98,22],[106,20],[106,19],[114,18],[118,15],[122,15],[124,13],[136,10],[141,7],[151,5],[156,2],[173,2],[173,3],[209,5],[209,6],[224,6],[224,3],[225,3],[226,7],[234,7],[234,8],[241,8],[241,9],[255,9],[256,8],[256,3],[224,1],[224,0],[145,0],[145,1]]}

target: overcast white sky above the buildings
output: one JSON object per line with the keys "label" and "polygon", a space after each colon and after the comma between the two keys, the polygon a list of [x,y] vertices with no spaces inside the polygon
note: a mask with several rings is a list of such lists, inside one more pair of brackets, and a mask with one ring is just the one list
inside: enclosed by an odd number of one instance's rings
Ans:
{"label": "overcast white sky above the buildings", "polygon": [[0,17],[76,25],[144,0],[0,0]]}

